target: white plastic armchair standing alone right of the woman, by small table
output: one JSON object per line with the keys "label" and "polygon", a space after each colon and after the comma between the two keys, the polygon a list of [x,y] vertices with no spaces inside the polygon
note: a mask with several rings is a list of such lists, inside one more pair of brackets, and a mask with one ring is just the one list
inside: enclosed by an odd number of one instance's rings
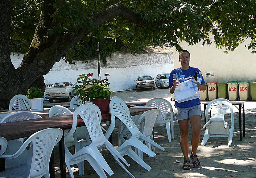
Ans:
{"label": "white plastic armchair standing alone right of the woman, by small table", "polygon": [[[208,120],[208,111],[211,111],[211,117]],[[231,127],[225,122],[225,112],[230,109]],[[204,146],[209,137],[228,137],[228,145],[231,146],[234,131],[234,116],[232,103],[224,98],[214,99],[205,109],[205,119],[208,121],[202,129],[205,129],[201,145]]]}

